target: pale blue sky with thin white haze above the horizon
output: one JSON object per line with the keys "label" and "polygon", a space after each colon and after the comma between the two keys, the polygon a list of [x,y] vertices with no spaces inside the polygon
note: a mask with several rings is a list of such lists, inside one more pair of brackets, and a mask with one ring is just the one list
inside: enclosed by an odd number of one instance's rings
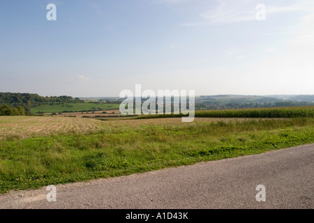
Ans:
{"label": "pale blue sky with thin white haze above the horizon", "polygon": [[0,92],[314,94],[313,27],[308,0],[0,0]]}

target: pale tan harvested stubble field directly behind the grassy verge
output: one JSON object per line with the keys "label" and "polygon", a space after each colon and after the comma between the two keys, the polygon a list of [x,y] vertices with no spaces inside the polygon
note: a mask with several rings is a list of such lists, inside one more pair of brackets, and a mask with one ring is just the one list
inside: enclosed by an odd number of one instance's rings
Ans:
{"label": "pale tan harvested stubble field directly behind the grassy verge", "polygon": [[[252,118],[251,118],[252,119]],[[195,118],[194,122],[245,121],[249,118]],[[0,139],[24,139],[50,134],[81,134],[105,128],[135,127],[138,125],[174,125],[181,118],[152,118],[140,120],[100,121],[94,118],[64,116],[0,116]]]}

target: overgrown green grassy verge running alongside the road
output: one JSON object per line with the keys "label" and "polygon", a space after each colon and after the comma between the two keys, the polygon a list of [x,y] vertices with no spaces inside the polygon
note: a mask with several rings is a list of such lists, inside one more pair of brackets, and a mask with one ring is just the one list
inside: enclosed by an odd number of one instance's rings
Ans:
{"label": "overgrown green grassy verge running alongside the road", "polygon": [[0,193],[314,142],[314,118],[107,127],[0,141]]}

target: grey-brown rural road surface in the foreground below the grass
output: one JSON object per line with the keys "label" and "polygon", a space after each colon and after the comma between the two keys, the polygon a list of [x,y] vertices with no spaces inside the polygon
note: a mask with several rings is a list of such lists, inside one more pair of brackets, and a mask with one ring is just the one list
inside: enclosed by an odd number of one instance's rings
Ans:
{"label": "grey-brown rural road surface in the foreground below the grass", "polygon": [[[265,201],[256,201],[257,185]],[[0,195],[0,208],[314,208],[314,144]]]}

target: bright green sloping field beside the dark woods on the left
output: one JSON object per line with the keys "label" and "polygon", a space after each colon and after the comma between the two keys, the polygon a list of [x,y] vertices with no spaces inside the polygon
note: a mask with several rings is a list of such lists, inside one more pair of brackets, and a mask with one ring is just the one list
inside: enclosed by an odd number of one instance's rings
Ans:
{"label": "bright green sloping field beside the dark woods on the left", "polygon": [[66,103],[64,105],[39,105],[31,108],[31,113],[36,114],[38,112],[43,113],[57,113],[57,112],[82,112],[91,111],[95,108],[101,110],[119,109],[119,104],[98,104],[98,103]]}

